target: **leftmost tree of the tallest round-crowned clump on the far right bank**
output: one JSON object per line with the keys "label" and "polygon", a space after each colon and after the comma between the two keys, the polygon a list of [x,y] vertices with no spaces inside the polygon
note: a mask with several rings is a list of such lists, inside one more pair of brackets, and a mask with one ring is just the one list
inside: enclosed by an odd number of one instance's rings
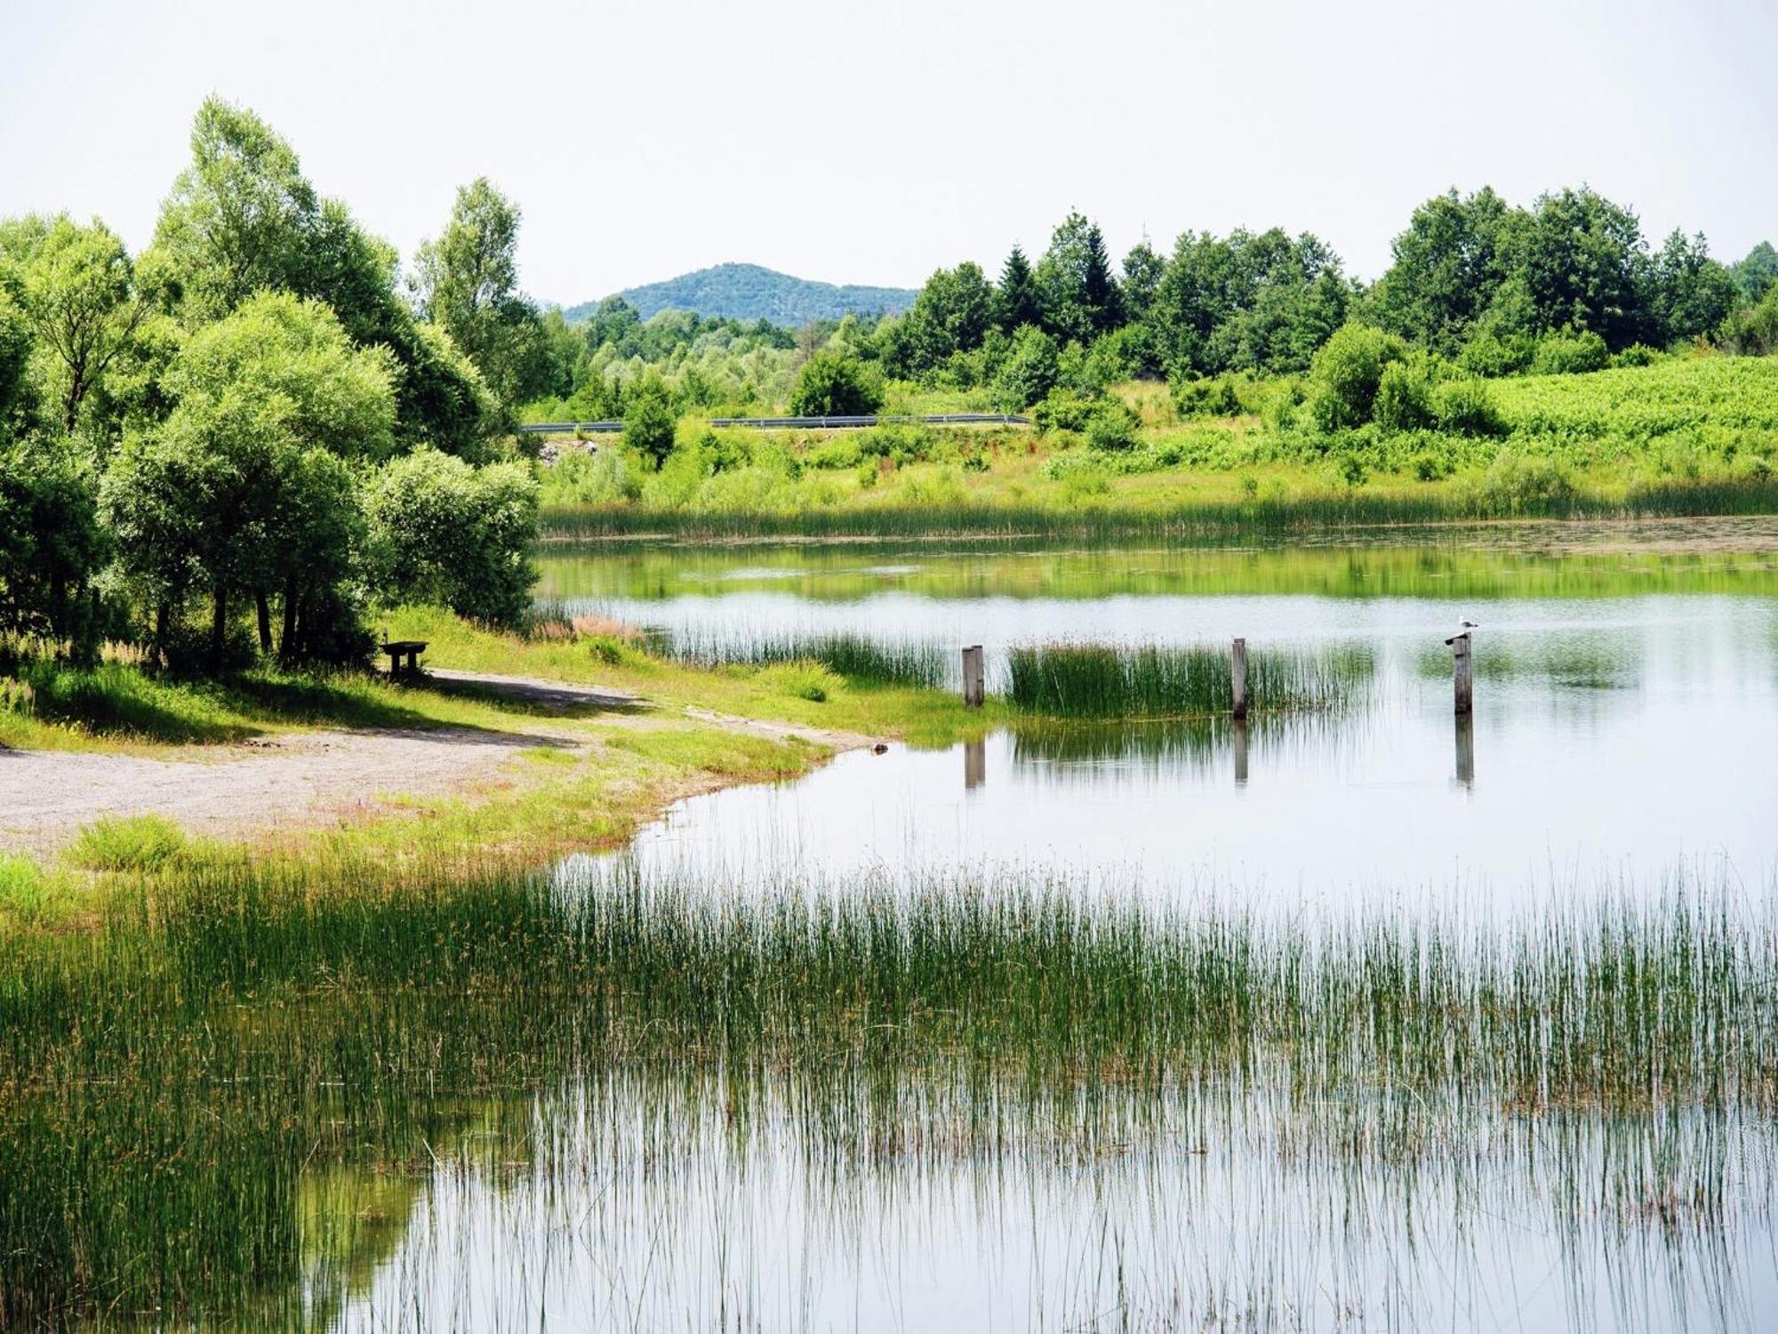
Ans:
{"label": "leftmost tree of the tallest round-crowned clump on the far right bank", "polygon": [[1394,261],[1369,293],[1376,322],[1440,356],[1454,356],[1506,281],[1510,231],[1522,210],[1492,189],[1433,196],[1392,244]]}

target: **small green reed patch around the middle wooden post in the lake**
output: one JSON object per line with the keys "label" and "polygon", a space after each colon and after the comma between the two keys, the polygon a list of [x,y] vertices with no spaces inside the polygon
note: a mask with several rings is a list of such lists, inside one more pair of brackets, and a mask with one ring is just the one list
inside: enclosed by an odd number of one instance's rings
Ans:
{"label": "small green reed patch around the middle wooden post in the lake", "polygon": [[[1013,708],[1069,719],[1189,719],[1234,708],[1230,653],[1218,647],[1015,644]],[[1344,708],[1367,695],[1376,658],[1364,647],[1259,649],[1246,660],[1248,708],[1291,713]]]}

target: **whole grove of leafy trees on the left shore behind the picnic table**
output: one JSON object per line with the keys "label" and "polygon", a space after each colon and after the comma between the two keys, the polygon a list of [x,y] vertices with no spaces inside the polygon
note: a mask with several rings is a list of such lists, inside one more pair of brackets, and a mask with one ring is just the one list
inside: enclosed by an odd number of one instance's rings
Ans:
{"label": "whole grove of leafy trees on the left shore behind the picnic table", "polygon": [[361,662],[377,603],[517,621],[537,484],[507,404],[541,325],[516,229],[477,181],[404,277],[213,100],[140,254],[0,222],[0,655]]}

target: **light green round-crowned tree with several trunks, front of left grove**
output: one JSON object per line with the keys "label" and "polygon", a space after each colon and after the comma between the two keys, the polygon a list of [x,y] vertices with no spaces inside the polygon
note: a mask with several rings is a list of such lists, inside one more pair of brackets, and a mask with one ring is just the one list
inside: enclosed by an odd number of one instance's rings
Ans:
{"label": "light green round-crowned tree with several trunks, front of left grove", "polygon": [[[252,297],[192,334],[165,377],[171,416],[126,436],[101,489],[124,569],[156,610],[158,649],[204,589],[212,663],[236,596],[252,598],[270,653],[276,592],[284,656],[297,656],[302,608],[336,608],[352,564],[338,512],[352,503],[350,475],[336,462],[391,452],[393,377],[388,350],[354,347],[332,311],[288,293]],[[336,635],[311,624],[308,639]]]}

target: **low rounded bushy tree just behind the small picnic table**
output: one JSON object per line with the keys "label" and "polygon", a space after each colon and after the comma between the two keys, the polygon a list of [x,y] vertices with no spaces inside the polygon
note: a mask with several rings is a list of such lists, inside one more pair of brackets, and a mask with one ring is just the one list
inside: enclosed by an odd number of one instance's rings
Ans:
{"label": "low rounded bushy tree just behind the small picnic table", "polygon": [[528,470],[416,450],[372,478],[366,510],[384,596],[494,626],[523,621],[537,582],[537,482]]}

